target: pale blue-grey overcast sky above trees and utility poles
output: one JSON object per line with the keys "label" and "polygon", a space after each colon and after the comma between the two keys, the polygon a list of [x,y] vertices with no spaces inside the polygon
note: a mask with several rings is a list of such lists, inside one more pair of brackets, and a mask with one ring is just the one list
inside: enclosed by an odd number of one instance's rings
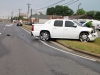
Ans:
{"label": "pale blue-grey overcast sky above trees and utility poles", "polygon": [[[60,3],[55,4],[59,1]],[[74,1],[77,2],[70,4]],[[39,12],[45,13],[48,6],[54,7],[64,4],[76,12],[80,3],[79,8],[83,8],[85,11],[100,11],[100,0],[0,0],[0,18],[10,17],[12,12],[14,12],[13,16],[18,16],[19,9],[21,9],[20,13],[27,13],[28,3],[31,4],[30,9],[33,10],[33,14]]]}

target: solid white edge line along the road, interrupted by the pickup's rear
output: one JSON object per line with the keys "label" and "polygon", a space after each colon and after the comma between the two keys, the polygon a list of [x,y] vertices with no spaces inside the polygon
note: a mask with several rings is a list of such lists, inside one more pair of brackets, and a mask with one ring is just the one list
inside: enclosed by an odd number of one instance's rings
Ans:
{"label": "solid white edge line along the road, interrupted by the pickup's rear", "polygon": [[[21,27],[21,28],[22,28],[22,27]],[[28,32],[29,34],[31,34],[28,30],[26,30],[26,29],[24,29],[24,28],[22,28],[22,29],[25,30],[26,32]],[[74,56],[77,56],[77,57],[85,58],[85,59],[88,59],[88,60],[96,61],[95,59],[91,59],[91,58],[88,58],[88,57],[80,56],[80,55],[77,55],[77,54],[74,54],[74,53],[71,53],[71,52],[67,52],[67,51],[58,49],[58,48],[56,48],[56,47],[50,46],[50,45],[48,45],[47,43],[45,43],[45,42],[43,42],[43,41],[41,41],[41,40],[40,40],[40,42],[42,42],[42,43],[45,44],[46,46],[51,47],[51,48],[53,48],[53,49],[55,49],[55,50],[58,50],[58,51],[61,51],[61,52],[67,53],[67,54],[71,54],[71,55],[74,55]]]}

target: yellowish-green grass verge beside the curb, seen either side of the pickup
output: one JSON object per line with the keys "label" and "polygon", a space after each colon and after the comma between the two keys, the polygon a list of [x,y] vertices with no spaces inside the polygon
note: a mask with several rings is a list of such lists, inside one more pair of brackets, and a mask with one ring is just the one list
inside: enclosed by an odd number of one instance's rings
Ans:
{"label": "yellowish-green grass verge beside the curb, seen either side of the pickup", "polygon": [[[31,30],[31,26],[23,24],[23,27]],[[100,55],[100,38],[97,38],[94,42],[80,42],[78,40],[58,40],[59,42],[69,45],[83,51],[92,52]]]}

